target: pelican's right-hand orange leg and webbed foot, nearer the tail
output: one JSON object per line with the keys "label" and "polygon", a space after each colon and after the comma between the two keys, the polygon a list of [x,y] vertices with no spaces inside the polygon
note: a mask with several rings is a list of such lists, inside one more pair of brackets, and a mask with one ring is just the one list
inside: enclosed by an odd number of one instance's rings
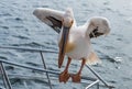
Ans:
{"label": "pelican's right-hand orange leg and webbed foot, nearer the tail", "polygon": [[81,79],[80,75],[81,75],[81,70],[84,68],[85,63],[86,63],[86,59],[82,58],[79,71],[76,75],[72,76],[73,82],[80,82],[80,79]]}

